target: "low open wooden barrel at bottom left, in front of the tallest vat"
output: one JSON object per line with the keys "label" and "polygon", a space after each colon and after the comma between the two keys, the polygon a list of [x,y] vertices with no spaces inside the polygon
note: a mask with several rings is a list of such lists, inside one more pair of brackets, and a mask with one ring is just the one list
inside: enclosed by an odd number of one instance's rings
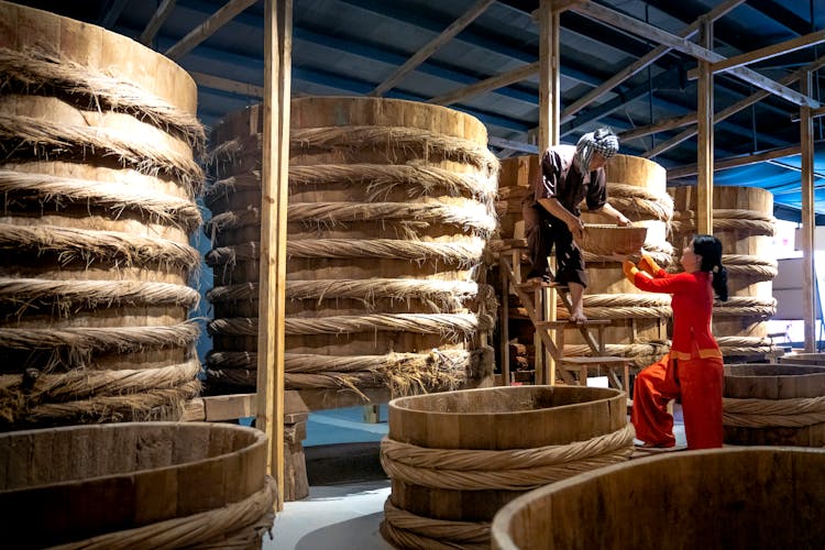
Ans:
{"label": "low open wooden barrel at bottom left, in front of the tallest vat", "polygon": [[276,485],[253,428],[14,431],[0,435],[0,525],[21,548],[261,548],[272,527]]}

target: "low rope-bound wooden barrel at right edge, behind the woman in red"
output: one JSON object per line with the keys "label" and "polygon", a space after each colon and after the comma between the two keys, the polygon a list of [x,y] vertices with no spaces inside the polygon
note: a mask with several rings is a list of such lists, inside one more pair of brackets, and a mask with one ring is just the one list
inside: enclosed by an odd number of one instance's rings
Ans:
{"label": "low rope-bound wooden barrel at right edge, behind the woman in red", "polygon": [[825,366],[725,365],[725,443],[825,447]]}

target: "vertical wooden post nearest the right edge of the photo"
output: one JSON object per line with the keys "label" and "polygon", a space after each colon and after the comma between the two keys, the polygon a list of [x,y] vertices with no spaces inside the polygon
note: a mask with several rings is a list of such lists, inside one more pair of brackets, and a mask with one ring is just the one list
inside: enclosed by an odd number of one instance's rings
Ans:
{"label": "vertical wooden post nearest the right edge of the photo", "polygon": [[[811,72],[800,79],[800,92],[811,95]],[[802,167],[802,317],[805,321],[805,351],[816,351],[816,311],[814,292],[814,122],[811,108],[800,106],[800,153]]]}

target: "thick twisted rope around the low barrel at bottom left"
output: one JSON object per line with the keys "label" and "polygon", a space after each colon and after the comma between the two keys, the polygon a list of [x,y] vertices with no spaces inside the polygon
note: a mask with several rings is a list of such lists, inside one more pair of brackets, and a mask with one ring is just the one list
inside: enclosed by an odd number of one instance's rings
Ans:
{"label": "thick twisted rope around the low barrel at bottom left", "polygon": [[266,476],[263,487],[220,508],[134,529],[99,535],[53,547],[53,550],[127,550],[130,548],[248,549],[261,544],[275,520],[277,483]]}

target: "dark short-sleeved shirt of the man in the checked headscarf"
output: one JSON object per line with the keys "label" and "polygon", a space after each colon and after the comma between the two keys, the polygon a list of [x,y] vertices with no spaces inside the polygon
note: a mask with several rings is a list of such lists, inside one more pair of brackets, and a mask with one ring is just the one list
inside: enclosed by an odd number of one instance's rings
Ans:
{"label": "dark short-sleeved shirt of the man in the checked headscarf", "polygon": [[600,210],[607,202],[604,168],[590,173],[585,183],[579,167],[573,165],[573,145],[549,147],[541,155],[541,178],[534,182],[534,204],[539,199],[556,197],[574,216],[582,212],[579,205],[586,199],[590,210]]}

